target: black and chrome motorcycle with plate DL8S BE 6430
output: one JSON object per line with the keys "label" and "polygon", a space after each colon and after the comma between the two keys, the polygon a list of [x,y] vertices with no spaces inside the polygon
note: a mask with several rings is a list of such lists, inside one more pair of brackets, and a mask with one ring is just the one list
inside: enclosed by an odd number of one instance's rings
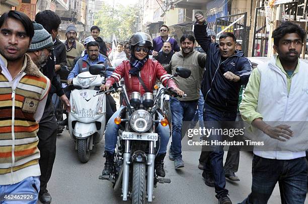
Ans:
{"label": "black and chrome motorcycle with plate DL8S BE 6430", "polygon": [[[90,69],[92,74],[99,71]],[[189,69],[178,67],[168,81],[178,75],[188,78],[190,73]],[[107,176],[100,175],[99,179],[111,181],[115,191],[121,188],[122,200],[130,198],[133,204],[145,203],[146,199],[151,202],[154,198],[153,187],[157,187],[158,183],[171,182],[168,178],[159,178],[154,167],[156,142],[160,140],[156,127],[159,123],[162,126],[168,125],[160,109],[161,96],[178,95],[167,85],[159,89],[155,98],[150,92],[144,93],[142,97],[139,92],[132,92],[129,99],[125,85],[114,83],[111,89],[98,91],[95,96],[107,92],[119,92],[126,106],[114,120],[121,128],[117,137],[113,172]]]}

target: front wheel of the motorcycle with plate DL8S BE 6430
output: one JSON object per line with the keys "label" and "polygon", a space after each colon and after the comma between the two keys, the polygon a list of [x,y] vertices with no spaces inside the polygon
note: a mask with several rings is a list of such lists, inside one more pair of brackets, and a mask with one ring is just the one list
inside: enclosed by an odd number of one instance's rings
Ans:
{"label": "front wheel of the motorcycle with plate DL8S BE 6430", "polygon": [[132,204],[145,203],[145,164],[140,162],[133,163],[132,180]]}

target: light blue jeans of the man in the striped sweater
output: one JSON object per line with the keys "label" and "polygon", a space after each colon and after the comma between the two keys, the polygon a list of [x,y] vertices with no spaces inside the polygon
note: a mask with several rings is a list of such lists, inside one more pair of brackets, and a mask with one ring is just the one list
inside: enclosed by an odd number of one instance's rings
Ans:
{"label": "light blue jeans of the man in the striped sweater", "polygon": [[30,176],[25,178],[24,180],[20,181],[19,183],[15,183],[12,185],[0,185],[0,198],[2,195],[13,195],[16,193],[22,194],[22,195],[30,195],[33,196],[33,199],[31,200],[20,200],[20,201],[2,201],[0,200],[0,203],[2,204],[36,204],[38,200],[38,193],[40,191],[40,177],[39,176]]}

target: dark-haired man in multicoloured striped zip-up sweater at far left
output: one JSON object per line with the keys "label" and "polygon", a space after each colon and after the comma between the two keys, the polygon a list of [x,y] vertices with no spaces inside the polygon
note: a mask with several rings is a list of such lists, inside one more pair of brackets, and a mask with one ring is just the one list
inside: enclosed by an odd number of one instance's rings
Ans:
{"label": "dark-haired man in multicoloured striped zip-up sweater at far left", "polygon": [[24,13],[0,17],[0,203],[35,204],[40,190],[38,129],[50,80],[26,54],[32,39],[41,47]]}

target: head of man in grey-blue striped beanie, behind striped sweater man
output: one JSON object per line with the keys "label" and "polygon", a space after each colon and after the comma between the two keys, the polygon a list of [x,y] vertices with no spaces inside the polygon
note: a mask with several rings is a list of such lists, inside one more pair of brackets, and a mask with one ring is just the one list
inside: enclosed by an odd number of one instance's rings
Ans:
{"label": "head of man in grey-blue striped beanie, behind striped sweater man", "polygon": [[34,64],[41,68],[47,63],[47,59],[53,51],[53,42],[51,35],[41,24],[33,23],[33,28],[34,36],[28,50],[28,55]]}

